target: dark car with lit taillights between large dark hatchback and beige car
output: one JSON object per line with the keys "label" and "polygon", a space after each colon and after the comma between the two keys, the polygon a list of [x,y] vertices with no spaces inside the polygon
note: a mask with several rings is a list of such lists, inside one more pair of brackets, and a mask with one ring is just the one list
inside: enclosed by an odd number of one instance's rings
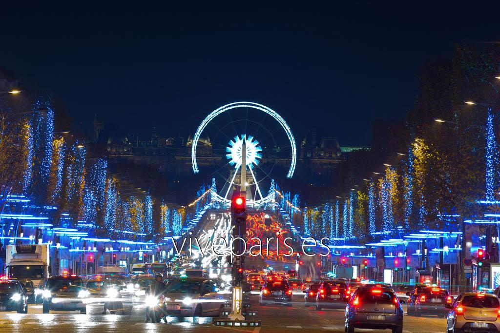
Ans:
{"label": "dark car with lit taillights between large dark hatchback and beige car", "polygon": [[449,312],[446,305],[452,302],[453,298],[445,289],[423,288],[408,302],[406,311],[408,316],[437,315],[446,318]]}

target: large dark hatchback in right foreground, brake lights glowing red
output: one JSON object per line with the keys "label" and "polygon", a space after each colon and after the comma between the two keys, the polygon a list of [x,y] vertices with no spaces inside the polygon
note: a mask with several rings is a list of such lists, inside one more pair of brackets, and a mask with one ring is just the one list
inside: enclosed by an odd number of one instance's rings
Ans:
{"label": "large dark hatchback in right foreground, brake lights glowing red", "polygon": [[345,307],[345,332],[390,329],[402,333],[403,309],[394,291],[386,287],[359,287]]}

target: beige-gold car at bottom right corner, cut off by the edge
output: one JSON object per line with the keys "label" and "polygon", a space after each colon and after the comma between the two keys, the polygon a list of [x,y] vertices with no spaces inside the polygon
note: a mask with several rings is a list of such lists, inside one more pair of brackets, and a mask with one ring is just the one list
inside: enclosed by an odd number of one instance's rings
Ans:
{"label": "beige-gold car at bottom right corner, cut off by the edge", "polygon": [[494,294],[463,293],[458,295],[446,320],[448,333],[500,331],[500,302]]}

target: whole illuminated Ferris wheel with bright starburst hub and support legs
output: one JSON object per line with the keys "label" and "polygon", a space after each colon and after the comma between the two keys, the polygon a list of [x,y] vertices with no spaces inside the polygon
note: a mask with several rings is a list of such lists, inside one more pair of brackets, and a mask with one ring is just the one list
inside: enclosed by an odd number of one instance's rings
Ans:
{"label": "whole illuminated Ferris wheel with bright starburst hub and support legs", "polygon": [[214,198],[221,204],[228,204],[230,192],[239,187],[240,177],[244,177],[242,168],[246,170],[243,182],[250,206],[274,200],[274,193],[264,191],[266,186],[274,184],[274,177],[291,178],[295,171],[296,145],[290,127],[278,113],[262,104],[235,102],[213,110],[189,141],[193,172],[211,167],[219,187]]}

